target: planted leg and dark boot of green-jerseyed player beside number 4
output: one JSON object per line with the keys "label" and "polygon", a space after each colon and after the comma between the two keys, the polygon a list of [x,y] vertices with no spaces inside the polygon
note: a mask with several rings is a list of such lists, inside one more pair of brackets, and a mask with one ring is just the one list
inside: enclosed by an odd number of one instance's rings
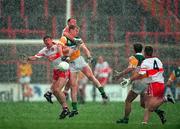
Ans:
{"label": "planted leg and dark boot of green-jerseyed player beside number 4", "polygon": [[131,105],[132,101],[138,96],[138,94],[134,93],[132,90],[129,91],[128,96],[125,100],[125,114],[122,119],[117,120],[117,123],[128,124],[129,115],[131,113]]}

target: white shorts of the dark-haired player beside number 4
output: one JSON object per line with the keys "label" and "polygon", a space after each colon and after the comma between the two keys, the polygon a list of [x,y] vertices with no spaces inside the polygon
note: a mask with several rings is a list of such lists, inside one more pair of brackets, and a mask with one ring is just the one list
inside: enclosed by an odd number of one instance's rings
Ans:
{"label": "white shorts of the dark-haired player beside number 4", "polygon": [[131,90],[136,94],[141,94],[145,91],[145,89],[148,87],[148,84],[145,83],[142,80],[135,80],[132,83]]}

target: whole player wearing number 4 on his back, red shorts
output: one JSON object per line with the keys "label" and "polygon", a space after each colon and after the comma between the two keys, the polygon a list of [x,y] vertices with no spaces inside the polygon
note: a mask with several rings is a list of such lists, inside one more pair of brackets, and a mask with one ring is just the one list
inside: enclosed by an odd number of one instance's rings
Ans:
{"label": "whole player wearing number 4 on his back, red shorts", "polygon": [[144,120],[142,123],[147,124],[151,112],[155,111],[164,124],[166,122],[165,113],[158,109],[158,107],[165,101],[170,101],[171,98],[164,97],[163,64],[157,57],[152,56],[153,48],[151,46],[145,47],[144,54],[146,59],[141,64],[139,74],[130,78],[131,81],[144,78],[148,84],[145,96]]}

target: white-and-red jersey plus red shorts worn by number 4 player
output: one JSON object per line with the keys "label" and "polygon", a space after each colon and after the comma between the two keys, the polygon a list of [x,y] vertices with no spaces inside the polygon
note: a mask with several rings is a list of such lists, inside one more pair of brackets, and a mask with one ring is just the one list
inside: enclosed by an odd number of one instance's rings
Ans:
{"label": "white-and-red jersey plus red shorts worn by number 4 player", "polygon": [[157,57],[146,57],[141,64],[139,74],[146,74],[145,82],[149,84],[148,94],[162,98],[164,95],[164,69],[162,62]]}

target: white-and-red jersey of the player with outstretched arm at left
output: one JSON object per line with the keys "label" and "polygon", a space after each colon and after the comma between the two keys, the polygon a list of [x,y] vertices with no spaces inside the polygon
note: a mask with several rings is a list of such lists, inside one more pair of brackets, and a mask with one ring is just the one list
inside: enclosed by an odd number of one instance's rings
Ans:
{"label": "white-and-red jersey of the player with outstretched arm at left", "polygon": [[60,55],[60,46],[57,44],[54,44],[51,48],[44,47],[41,49],[35,57],[37,58],[42,58],[45,57],[47,58],[50,62],[53,63],[54,68],[61,62],[61,56]]}

